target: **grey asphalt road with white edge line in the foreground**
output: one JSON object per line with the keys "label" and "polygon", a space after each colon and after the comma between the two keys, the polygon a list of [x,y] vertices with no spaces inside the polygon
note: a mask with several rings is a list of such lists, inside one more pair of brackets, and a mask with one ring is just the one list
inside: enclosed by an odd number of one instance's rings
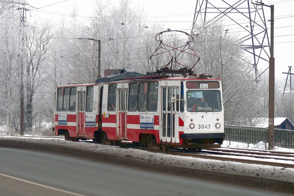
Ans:
{"label": "grey asphalt road with white edge line in the foreground", "polygon": [[111,196],[281,195],[141,171],[82,158],[0,148],[0,195],[73,195],[71,193]]}

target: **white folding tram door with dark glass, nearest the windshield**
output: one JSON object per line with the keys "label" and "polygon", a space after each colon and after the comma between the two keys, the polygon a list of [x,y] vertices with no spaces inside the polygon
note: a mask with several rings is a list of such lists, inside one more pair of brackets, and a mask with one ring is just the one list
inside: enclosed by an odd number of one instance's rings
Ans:
{"label": "white folding tram door with dark glass, nearest the windshield", "polygon": [[161,89],[162,107],[161,107],[161,125],[162,142],[175,142],[175,107],[171,103],[172,90],[177,87],[164,86]]}

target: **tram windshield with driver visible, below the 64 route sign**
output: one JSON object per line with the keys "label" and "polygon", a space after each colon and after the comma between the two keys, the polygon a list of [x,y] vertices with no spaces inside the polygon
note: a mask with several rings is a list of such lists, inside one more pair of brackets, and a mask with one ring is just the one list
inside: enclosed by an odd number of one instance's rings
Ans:
{"label": "tram windshield with driver visible, below the 64 route sign", "polygon": [[221,111],[221,96],[219,90],[188,90],[188,112],[215,112]]}

